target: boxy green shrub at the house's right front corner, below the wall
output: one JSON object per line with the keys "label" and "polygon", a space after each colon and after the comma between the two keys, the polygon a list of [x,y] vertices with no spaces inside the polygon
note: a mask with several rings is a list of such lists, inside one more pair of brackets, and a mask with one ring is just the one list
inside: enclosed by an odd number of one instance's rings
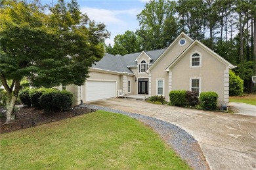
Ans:
{"label": "boxy green shrub at the house's right front corner, below the wall", "polygon": [[204,110],[215,110],[217,108],[218,95],[215,92],[208,91],[200,94],[200,102]]}

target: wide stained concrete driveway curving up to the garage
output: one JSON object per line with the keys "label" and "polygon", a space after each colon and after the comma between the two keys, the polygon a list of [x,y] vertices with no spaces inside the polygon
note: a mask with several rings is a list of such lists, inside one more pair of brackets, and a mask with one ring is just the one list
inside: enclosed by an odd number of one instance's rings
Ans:
{"label": "wide stained concrete driveway curving up to the garage", "polygon": [[256,169],[256,117],[110,98],[98,106],[152,116],[194,136],[211,169]]}

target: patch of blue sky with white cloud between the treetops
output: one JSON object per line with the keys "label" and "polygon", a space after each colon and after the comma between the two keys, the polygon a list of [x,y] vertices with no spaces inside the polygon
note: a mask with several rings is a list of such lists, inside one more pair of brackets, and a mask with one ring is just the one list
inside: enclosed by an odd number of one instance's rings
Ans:
{"label": "patch of blue sky with white cloud between the treetops", "polygon": [[[51,3],[51,0],[45,0],[44,3]],[[56,2],[56,0],[53,0]],[[68,2],[68,1],[66,1]],[[107,26],[107,30],[111,32],[110,39],[106,39],[105,43],[114,45],[114,37],[117,34],[123,34],[127,30],[135,32],[139,29],[139,14],[147,0],[77,0],[80,10],[87,13],[91,20],[102,22]]]}

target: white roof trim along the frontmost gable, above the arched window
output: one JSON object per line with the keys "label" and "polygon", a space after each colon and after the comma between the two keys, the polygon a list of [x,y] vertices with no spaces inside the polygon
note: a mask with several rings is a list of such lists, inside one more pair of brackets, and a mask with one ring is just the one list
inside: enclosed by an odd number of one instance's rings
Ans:
{"label": "white roof trim along the frontmost gable, above the arched window", "polygon": [[200,47],[202,47],[203,49],[205,49],[205,51],[207,51],[208,53],[212,54],[215,58],[217,58],[217,60],[219,60],[220,62],[222,62],[223,64],[225,64],[226,66],[228,66],[228,68],[235,68],[236,66],[234,66],[233,64],[231,64],[230,62],[228,62],[227,60],[225,60],[224,58],[222,58],[221,56],[219,56],[217,53],[215,53],[214,51],[212,51],[211,49],[209,49],[207,46],[203,45],[203,43],[201,43],[200,41],[196,40],[194,41],[192,44],[190,44],[188,46],[188,48],[186,48],[185,51],[183,51],[174,61],[173,63],[171,63],[166,69],[166,72],[169,72],[169,68],[172,68],[177,62],[179,62],[179,60],[181,60],[181,58],[186,54],[186,52],[188,52],[192,47],[194,47],[194,45],[199,45]]}

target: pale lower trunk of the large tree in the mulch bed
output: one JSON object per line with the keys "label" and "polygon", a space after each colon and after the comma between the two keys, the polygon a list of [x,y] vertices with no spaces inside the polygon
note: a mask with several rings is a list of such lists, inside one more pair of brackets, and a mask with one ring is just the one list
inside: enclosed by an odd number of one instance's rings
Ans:
{"label": "pale lower trunk of the large tree in the mulch bed", "polygon": [[6,106],[7,106],[7,112],[6,112],[7,119],[5,121],[5,124],[12,123],[12,121],[14,121],[15,118],[16,118],[15,113],[14,113],[14,106],[15,106],[16,99],[17,99],[17,96],[12,95],[12,93],[7,94],[7,104],[6,104]]}

